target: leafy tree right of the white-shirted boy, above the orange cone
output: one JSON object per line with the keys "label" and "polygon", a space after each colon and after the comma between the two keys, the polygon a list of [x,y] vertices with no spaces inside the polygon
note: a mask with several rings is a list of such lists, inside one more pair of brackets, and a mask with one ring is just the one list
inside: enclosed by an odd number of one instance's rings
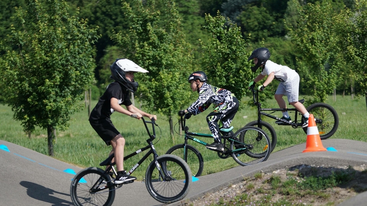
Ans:
{"label": "leafy tree right of the white-shirted boy, above the orange cone", "polygon": [[298,13],[297,28],[290,24],[287,28],[304,61],[299,65],[306,66],[298,69],[305,76],[301,82],[313,95],[311,102],[325,102],[328,94],[336,88],[343,61],[333,20],[335,13],[328,1],[308,3],[303,7],[296,0],[293,3]]}

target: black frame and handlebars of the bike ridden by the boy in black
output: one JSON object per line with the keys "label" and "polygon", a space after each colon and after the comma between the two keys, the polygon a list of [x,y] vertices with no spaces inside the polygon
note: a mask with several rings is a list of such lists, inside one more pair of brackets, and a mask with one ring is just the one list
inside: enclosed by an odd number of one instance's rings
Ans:
{"label": "black frame and handlebars of the bike ridden by the boy in black", "polygon": [[[141,165],[141,163],[143,163],[149,157],[149,155],[153,154],[154,162],[155,162],[155,164],[156,164],[156,166],[157,166],[157,168],[158,168],[158,170],[159,170],[159,172],[161,174],[161,177],[167,177],[168,175],[164,175],[163,174],[163,171],[161,170],[161,166],[158,164],[158,161],[157,161],[158,154],[157,154],[157,151],[156,151],[156,149],[155,149],[155,147],[154,147],[154,145],[152,143],[152,141],[156,138],[156,130],[155,130],[155,122],[154,122],[154,119],[152,118],[151,122],[146,122],[144,120],[144,118],[141,118],[141,119],[143,120],[143,123],[145,125],[145,128],[146,128],[146,130],[148,132],[148,135],[150,137],[148,140],[146,140],[146,142],[148,143],[148,145],[145,146],[145,147],[142,147],[142,148],[138,149],[137,151],[135,151],[135,152],[133,152],[133,153],[131,153],[129,155],[126,155],[124,157],[124,161],[130,159],[131,157],[134,157],[135,155],[137,155],[137,154],[139,154],[139,153],[141,153],[141,152],[143,152],[143,151],[145,151],[147,149],[150,149],[150,150],[126,174],[127,175],[130,175],[131,173],[133,173]],[[152,124],[153,135],[150,133],[149,128],[147,126],[147,123],[148,124]],[[114,157],[115,157],[115,154],[112,154],[105,161],[103,161],[102,163],[99,164],[100,166],[109,165],[106,168],[105,172],[103,173],[104,175],[109,175],[108,172],[112,169],[114,171],[115,175],[117,176],[117,172],[115,171],[115,167],[114,167],[114,165],[116,165],[116,163],[115,162],[112,162],[112,159]],[[110,188],[112,186],[112,185],[107,185],[107,186],[104,186],[104,187],[98,187],[97,185],[100,183],[100,181],[102,181],[102,177],[100,177],[96,181],[96,183],[93,185],[92,188],[94,188],[94,189],[92,189],[92,192],[98,192],[98,191],[101,191],[101,190]]]}

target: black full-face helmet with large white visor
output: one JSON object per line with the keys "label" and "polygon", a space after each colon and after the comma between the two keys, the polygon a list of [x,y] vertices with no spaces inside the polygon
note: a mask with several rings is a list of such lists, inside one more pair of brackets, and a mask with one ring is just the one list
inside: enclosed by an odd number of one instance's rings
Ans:
{"label": "black full-face helmet with large white visor", "polygon": [[117,59],[110,67],[111,79],[119,82],[122,86],[125,86],[131,92],[136,92],[138,89],[138,82],[134,79],[129,81],[126,79],[126,72],[142,72],[147,73],[148,71],[141,68],[138,64],[128,59]]}

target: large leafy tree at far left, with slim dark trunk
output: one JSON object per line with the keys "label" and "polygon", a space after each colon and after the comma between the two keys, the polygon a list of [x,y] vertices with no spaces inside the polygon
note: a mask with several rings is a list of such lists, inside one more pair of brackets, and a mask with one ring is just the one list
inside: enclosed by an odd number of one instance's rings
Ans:
{"label": "large leafy tree at far left, with slim dark trunk", "polygon": [[6,53],[0,72],[10,94],[5,101],[25,131],[47,129],[48,153],[53,156],[54,130],[68,127],[70,115],[82,106],[75,103],[92,81],[91,44],[98,37],[86,21],[69,16],[64,0],[47,0],[47,9],[37,0],[25,3],[25,10],[16,9],[22,30],[12,27],[8,41],[1,43]]}

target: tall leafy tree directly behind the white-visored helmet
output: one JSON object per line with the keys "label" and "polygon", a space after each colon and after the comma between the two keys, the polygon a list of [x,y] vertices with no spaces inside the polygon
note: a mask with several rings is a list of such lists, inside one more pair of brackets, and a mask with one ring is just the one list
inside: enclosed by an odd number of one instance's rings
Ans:
{"label": "tall leafy tree directly behind the white-visored helmet", "polygon": [[168,117],[173,136],[173,116],[190,101],[187,82],[192,72],[190,45],[184,41],[180,17],[175,4],[162,0],[162,11],[155,1],[134,1],[134,10],[124,2],[128,32],[118,32],[113,39],[123,49],[125,58],[136,62],[149,73],[137,75],[138,93],[144,108]]}

